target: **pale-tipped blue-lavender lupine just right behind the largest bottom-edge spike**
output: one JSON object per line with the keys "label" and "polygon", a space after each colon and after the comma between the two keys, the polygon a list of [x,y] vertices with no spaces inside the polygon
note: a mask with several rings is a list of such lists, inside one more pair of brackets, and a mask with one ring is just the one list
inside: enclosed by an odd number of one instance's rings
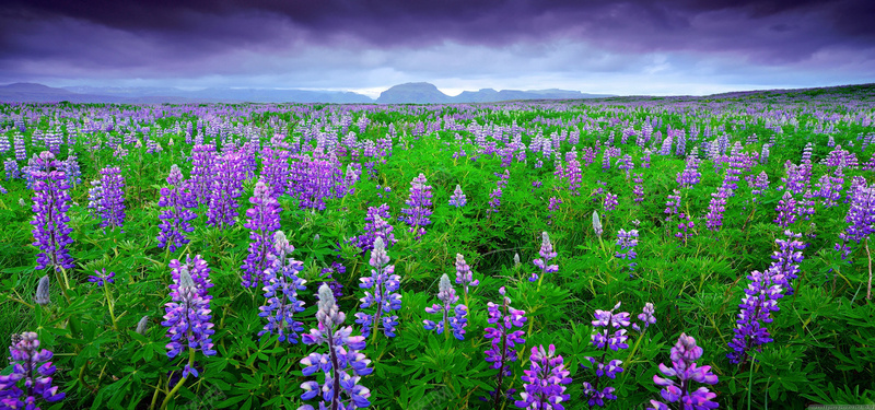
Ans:
{"label": "pale-tipped blue-lavender lupine just right behind the largest bottom-edge spike", "polygon": [[[371,277],[361,278],[361,289],[365,291],[361,298],[361,308],[365,309],[375,306],[373,314],[359,312],[355,314],[355,323],[362,326],[362,336],[365,338],[371,335],[371,330],[376,331],[383,325],[383,333],[388,338],[395,337],[395,327],[398,326],[398,316],[393,315],[393,311],[401,308],[401,294],[397,293],[401,277],[395,274],[395,265],[389,263],[389,256],[386,254],[386,245],[383,238],[374,241],[374,250],[371,251]],[[395,293],[394,293],[395,292]]]}

